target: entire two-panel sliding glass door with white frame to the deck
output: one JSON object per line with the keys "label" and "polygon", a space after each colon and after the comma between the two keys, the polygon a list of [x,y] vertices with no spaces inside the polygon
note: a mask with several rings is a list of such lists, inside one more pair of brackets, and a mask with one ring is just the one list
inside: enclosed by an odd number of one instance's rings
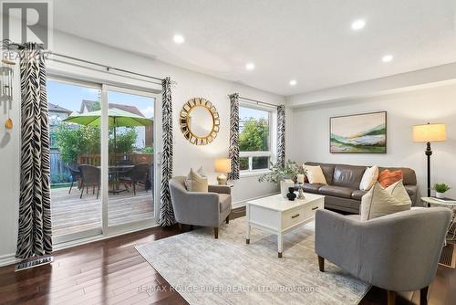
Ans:
{"label": "entire two-panel sliding glass door with white frame to the deck", "polygon": [[156,96],[74,79],[47,91],[54,242],[153,226]]}

